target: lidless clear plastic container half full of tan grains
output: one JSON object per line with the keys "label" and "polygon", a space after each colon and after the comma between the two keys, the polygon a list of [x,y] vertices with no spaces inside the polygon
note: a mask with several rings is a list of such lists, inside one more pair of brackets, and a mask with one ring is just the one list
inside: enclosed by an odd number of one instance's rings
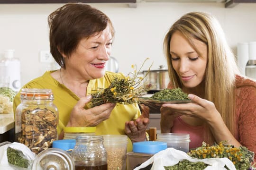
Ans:
{"label": "lidless clear plastic container half full of tan grains", "polygon": [[126,170],[128,138],[126,135],[102,135],[108,154],[108,170]]}

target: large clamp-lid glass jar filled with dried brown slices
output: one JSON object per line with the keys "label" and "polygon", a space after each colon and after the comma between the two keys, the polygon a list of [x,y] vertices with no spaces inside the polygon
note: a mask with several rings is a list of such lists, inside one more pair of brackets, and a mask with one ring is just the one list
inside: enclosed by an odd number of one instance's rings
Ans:
{"label": "large clamp-lid glass jar filled with dried brown slices", "polygon": [[58,109],[50,89],[21,89],[16,108],[15,140],[34,153],[52,147],[58,139]]}

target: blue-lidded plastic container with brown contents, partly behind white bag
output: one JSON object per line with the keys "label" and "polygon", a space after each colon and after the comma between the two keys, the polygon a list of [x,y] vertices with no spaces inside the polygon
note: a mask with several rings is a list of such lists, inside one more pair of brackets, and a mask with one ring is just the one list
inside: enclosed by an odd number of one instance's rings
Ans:
{"label": "blue-lidded plastic container with brown contents, partly behind white bag", "polygon": [[133,152],[127,153],[128,170],[133,170],[141,163],[147,161],[155,153],[167,148],[165,142],[145,141],[133,143]]}

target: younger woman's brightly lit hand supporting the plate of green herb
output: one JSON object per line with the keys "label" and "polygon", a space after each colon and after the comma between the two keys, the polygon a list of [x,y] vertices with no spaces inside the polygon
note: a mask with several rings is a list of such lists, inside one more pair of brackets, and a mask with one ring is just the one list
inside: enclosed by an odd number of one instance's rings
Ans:
{"label": "younger woman's brightly lit hand supporting the plate of green herb", "polygon": [[189,94],[188,97],[192,100],[190,103],[165,103],[162,107],[166,107],[173,112],[200,118],[207,122],[212,122],[219,118],[219,112],[213,102],[202,99],[194,94]]}

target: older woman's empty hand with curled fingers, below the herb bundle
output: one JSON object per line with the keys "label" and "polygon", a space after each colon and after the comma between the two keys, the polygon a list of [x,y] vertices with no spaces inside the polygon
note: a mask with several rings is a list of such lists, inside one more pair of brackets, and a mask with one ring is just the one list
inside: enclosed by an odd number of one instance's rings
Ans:
{"label": "older woman's empty hand with curled fingers, below the herb bundle", "polygon": [[136,120],[125,122],[125,133],[131,139],[132,143],[145,141],[146,128],[149,123],[149,107],[141,104],[142,114]]}

